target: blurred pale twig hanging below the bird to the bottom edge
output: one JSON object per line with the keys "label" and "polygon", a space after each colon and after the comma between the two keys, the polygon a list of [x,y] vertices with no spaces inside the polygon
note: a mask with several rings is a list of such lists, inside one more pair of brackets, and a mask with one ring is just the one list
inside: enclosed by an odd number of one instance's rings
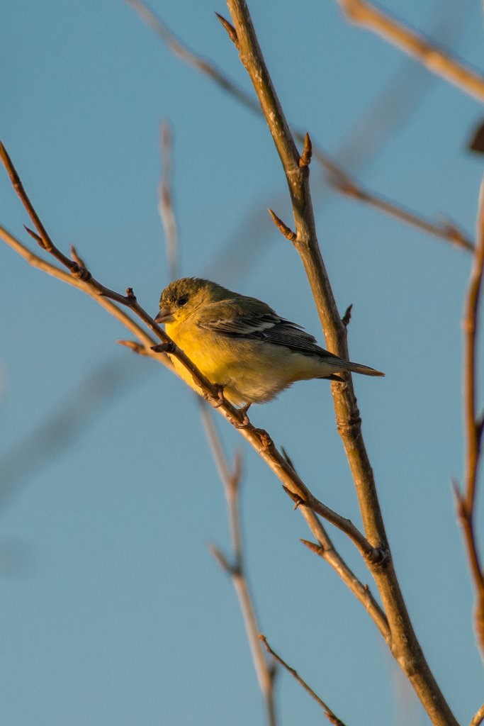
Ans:
{"label": "blurred pale twig hanging below the bird to the bottom edge", "polygon": [[244,618],[245,631],[247,632],[247,640],[249,641],[250,651],[252,653],[255,672],[257,674],[259,688],[266,703],[267,719],[269,726],[276,726],[276,711],[274,704],[274,668],[268,664],[266,655],[263,651],[258,634],[257,617],[253,605],[253,596],[250,593],[245,576],[245,563],[242,544],[242,532],[240,529],[240,513],[239,513],[239,490],[242,481],[242,465],[240,453],[236,452],[234,457],[234,465],[232,470],[223,453],[222,445],[215,425],[213,423],[210,411],[201,402],[202,423],[205,428],[205,434],[208,444],[216,462],[218,474],[223,484],[227,507],[229,508],[230,534],[232,542],[232,564],[229,564],[227,558],[222,555],[217,547],[210,547],[218,564],[229,575],[231,582],[237,592],[240,609]]}

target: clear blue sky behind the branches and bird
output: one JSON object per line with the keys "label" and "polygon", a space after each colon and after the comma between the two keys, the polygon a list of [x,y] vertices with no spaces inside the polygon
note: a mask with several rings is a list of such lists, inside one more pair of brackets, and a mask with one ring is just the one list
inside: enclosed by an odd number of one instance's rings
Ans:
{"label": "clear blue sky behind the branches and bird", "polygon": [[[250,90],[213,15],[226,13],[223,5],[152,7]],[[385,7],[429,33],[443,32],[435,17],[450,12],[435,0]],[[406,64],[410,108],[348,168],[474,234],[482,160],[465,143],[482,117],[477,100],[348,25],[335,2],[266,0],[250,9],[287,117],[329,153],[348,149]],[[482,68],[480,4],[462,10],[451,47]],[[265,123],[173,57],[121,0],[6,0],[2,16],[1,138],[57,245],[75,243],[99,280],[134,287],[155,314],[169,281],[157,214],[166,119],[182,273],[263,298],[322,342],[298,255],[264,213],[271,206],[291,221]],[[469,722],[483,701],[482,666],[451,478],[462,477],[470,256],[337,197],[315,164],[311,179],[338,306],[353,303],[351,357],[387,374],[355,384],[398,575],[430,665]],[[30,244],[5,174],[0,208],[0,223]],[[191,393],[116,346],[126,332],[91,299],[6,246],[0,255],[5,722],[264,723],[237,600],[207,549],[228,550],[229,534]],[[359,523],[326,382],[299,383],[251,418],[286,446],[316,496]],[[242,439],[216,419],[231,454]],[[396,666],[361,605],[298,541],[308,530],[278,481],[242,449],[247,568],[269,642],[348,724],[427,723],[414,696],[402,706]],[[482,514],[481,505],[480,522]],[[366,582],[353,548],[338,533],[335,541]],[[286,674],[277,706],[282,726],[321,718]]]}

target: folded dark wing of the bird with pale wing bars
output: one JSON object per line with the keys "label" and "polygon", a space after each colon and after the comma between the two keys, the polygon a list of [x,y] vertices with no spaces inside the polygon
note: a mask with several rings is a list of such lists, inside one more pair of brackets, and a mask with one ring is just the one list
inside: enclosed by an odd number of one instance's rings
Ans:
{"label": "folded dark wing of the bird with pale wing bars", "polygon": [[229,338],[266,340],[309,355],[333,356],[316,343],[300,325],[280,317],[266,303],[255,298],[231,298],[205,306],[197,325]]}

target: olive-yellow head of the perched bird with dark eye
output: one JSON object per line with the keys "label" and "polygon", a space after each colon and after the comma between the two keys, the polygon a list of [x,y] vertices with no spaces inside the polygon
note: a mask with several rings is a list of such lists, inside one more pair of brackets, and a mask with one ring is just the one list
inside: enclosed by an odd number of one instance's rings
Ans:
{"label": "olive-yellow head of the perched bird with dark eye", "polygon": [[229,290],[200,277],[182,277],[165,287],[160,297],[160,312],[155,322],[182,322],[200,305],[223,300]]}

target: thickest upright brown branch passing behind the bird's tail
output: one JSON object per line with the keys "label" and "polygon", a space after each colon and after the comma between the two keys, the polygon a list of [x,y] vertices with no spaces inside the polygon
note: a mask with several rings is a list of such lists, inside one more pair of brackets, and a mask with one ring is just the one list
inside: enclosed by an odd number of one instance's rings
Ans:
{"label": "thickest upright brown branch passing behind the bird's tail", "polygon": [[[245,0],[228,0],[231,20],[239,40],[239,57],[253,82],[268,128],[282,161],[290,190],[295,219],[295,248],[305,266],[321,319],[329,351],[348,358],[347,330],[340,318],[316,236],[308,168],[300,168],[299,152],[263,59]],[[372,466],[361,434],[361,419],[351,378],[332,383],[337,430],[358,495],[366,537],[374,546],[389,553],[385,566],[369,563],[377,583],[390,626],[393,656],[406,673],[424,709],[436,726],[456,726],[457,722],[422,653],[406,610],[405,601],[393,568],[377,497]]]}

